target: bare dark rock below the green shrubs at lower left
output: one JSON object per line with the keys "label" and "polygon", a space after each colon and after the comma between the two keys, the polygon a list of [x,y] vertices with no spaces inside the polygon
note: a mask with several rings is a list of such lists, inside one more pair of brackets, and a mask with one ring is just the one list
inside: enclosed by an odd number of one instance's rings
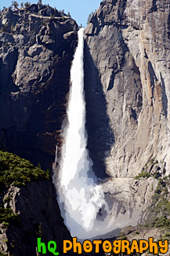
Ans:
{"label": "bare dark rock below the green shrubs at lower left", "polygon": [[7,198],[9,200],[5,207],[9,206],[13,213],[19,214],[20,223],[9,224],[7,229],[0,226],[1,252],[36,256],[37,238],[42,237],[46,247],[50,240],[56,241],[56,251],[62,254],[63,240],[71,239],[71,235],[60,217],[56,193],[51,183],[45,180],[21,188],[10,187],[4,196],[4,199]]}

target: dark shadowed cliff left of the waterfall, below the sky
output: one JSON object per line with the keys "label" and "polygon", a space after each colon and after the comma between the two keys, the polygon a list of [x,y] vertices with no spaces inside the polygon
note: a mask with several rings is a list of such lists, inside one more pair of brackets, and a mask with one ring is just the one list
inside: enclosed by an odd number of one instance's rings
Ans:
{"label": "dark shadowed cliff left of the waterfall, below the sky", "polygon": [[44,169],[54,161],[78,25],[49,6],[0,13],[0,146]]}

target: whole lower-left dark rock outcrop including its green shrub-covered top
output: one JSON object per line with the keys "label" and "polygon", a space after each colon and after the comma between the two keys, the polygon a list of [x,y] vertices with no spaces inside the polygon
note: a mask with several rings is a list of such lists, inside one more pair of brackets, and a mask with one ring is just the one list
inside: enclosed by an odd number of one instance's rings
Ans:
{"label": "whole lower-left dark rock outcrop including its green shrub-covered top", "polygon": [[[71,234],[63,224],[49,171],[15,154],[0,151],[0,254],[40,255],[37,238],[46,247]],[[47,255],[51,255],[47,250]]]}

